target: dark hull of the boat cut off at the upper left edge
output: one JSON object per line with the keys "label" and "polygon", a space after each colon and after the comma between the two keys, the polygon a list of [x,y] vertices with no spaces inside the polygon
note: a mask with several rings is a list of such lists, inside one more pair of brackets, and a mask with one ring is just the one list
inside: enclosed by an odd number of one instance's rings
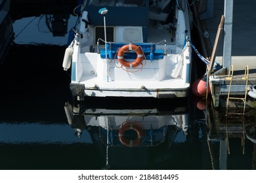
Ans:
{"label": "dark hull of the boat cut off at the upper left edge", "polygon": [[14,37],[9,10],[10,1],[0,0],[0,62],[5,58]]}

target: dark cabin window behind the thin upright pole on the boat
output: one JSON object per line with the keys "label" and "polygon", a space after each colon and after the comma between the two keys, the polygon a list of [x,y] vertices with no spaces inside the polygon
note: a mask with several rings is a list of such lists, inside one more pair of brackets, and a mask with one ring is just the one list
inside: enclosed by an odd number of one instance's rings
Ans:
{"label": "dark cabin window behind the thin upright pole on the boat", "polygon": [[[105,39],[104,35],[104,27],[96,26],[95,27],[95,45],[97,44],[98,39]],[[106,27],[106,41],[107,42],[114,42],[114,27]],[[103,41],[99,41],[100,45],[105,44]]]}

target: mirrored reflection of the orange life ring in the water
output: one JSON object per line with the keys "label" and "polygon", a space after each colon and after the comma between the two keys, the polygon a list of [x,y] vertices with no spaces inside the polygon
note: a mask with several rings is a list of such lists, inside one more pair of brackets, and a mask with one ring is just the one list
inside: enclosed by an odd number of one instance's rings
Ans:
{"label": "mirrored reflection of the orange life ring in the water", "polygon": [[[137,137],[134,140],[130,140],[127,137],[125,137],[125,132],[128,130],[133,130],[137,133]],[[125,124],[122,125],[121,129],[119,129],[118,138],[119,141],[125,145],[125,146],[138,146],[142,139],[143,139],[144,133],[143,129],[140,124],[137,122],[125,122]]]}

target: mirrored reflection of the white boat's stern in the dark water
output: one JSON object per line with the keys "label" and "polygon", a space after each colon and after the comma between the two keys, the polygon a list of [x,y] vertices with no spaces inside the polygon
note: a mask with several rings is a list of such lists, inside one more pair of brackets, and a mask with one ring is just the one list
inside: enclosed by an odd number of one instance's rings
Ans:
{"label": "mirrored reflection of the white boat's stern in the dark water", "polygon": [[64,108],[77,136],[83,136],[83,131],[90,133],[106,159],[103,169],[164,167],[165,161],[171,158],[172,143],[186,141],[189,120],[186,105],[173,110],[150,107],[149,103],[148,108],[137,104],[118,109],[114,103],[108,108],[89,105],[87,101],[72,108],[66,103]]}

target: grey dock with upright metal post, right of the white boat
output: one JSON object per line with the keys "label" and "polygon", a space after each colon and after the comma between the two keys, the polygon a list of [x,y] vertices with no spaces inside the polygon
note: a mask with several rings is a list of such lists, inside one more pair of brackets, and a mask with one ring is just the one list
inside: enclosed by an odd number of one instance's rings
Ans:
{"label": "grey dock with upright metal post, right of the white boat", "polygon": [[256,84],[256,1],[201,0],[194,6],[199,14],[201,46],[205,58],[211,58],[213,54],[218,26],[221,17],[225,16],[223,33],[215,52],[215,62],[223,68],[209,75],[214,107],[225,107],[228,95],[242,101],[245,99],[246,105],[255,107],[254,98],[248,92]]}

